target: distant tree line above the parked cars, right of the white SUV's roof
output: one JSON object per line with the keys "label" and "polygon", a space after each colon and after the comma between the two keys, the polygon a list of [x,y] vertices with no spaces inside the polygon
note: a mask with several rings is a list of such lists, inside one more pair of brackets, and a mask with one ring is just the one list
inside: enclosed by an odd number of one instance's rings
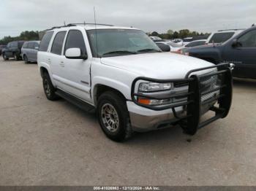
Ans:
{"label": "distant tree line above the parked cars, right of the white SUV's roof", "polygon": [[168,30],[166,33],[159,34],[156,31],[148,33],[148,36],[159,36],[161,39],[184,39],[193,36],[209,36],[208,33],[199,33],[197,31],[189,31],[189,29],[182,29],[180,31]]}

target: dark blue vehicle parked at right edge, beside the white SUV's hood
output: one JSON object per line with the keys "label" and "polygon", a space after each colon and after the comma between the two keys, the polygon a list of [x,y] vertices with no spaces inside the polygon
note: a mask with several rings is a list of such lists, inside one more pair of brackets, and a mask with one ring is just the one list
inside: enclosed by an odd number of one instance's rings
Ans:
{"label": "dark blue vehicle parked at right edge, beside the white SUV's hood", "polygon": [[183,52],[211,63],[234,63],[234,77],[256,79],[256,27],[251,27],[221,45],[194,47]]}

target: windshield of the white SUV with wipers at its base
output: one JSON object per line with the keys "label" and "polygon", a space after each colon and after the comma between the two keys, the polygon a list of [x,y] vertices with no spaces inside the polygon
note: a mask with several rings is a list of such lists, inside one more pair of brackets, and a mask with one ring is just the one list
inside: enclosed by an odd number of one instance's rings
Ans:
{"label": "windshield of the white SUV with wipers at its base", "polygon": [[96,30],[86,32],[94,57],[161,52],[157,44],[143,31],[135,29],[98,29],[97,33]]}

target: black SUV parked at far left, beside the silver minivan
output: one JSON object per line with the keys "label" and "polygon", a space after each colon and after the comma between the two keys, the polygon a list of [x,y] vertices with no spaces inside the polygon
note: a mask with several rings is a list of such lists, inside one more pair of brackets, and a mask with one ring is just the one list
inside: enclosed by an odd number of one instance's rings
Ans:
{"label": "black SUV parked at far left, beside the silver minivan", "polygon": [[15,58],[16,61],[20,60],[21,59],[20,52],[23,44],[24,44],[24,41],[9,42],[7,44],[7,47],[5,47],[2,50],[4,61],[7,61],[9,58]]}

